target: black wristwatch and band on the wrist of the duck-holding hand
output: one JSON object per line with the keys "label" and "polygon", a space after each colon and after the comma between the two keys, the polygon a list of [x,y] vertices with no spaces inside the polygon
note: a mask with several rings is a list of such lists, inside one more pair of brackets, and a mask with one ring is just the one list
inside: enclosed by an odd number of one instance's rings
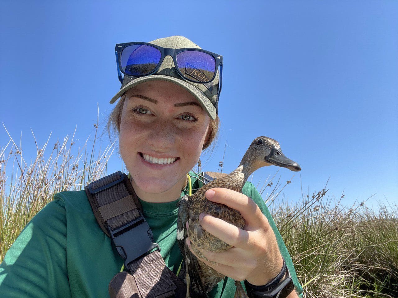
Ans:
{"label": "black wristwatch and band on the wrist of the duck-holding hand", "polygon": [[269,283],[263,286],[255,286],[248,281],[244,283],[250,298],[286,298],[295,288],[285,259],[281,272]]}

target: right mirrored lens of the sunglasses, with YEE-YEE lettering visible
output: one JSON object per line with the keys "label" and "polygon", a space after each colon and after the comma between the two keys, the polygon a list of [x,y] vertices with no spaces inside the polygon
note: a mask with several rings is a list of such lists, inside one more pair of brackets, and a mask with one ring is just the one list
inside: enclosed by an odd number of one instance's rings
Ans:
{"label": "right mirrored lens of the sunglasses, with YEE-YEE lettering visible", "polygon": [[207,83],[213,80],[216,60],[205,52],[186,50],[177,55],[178,69],[192,81]]}

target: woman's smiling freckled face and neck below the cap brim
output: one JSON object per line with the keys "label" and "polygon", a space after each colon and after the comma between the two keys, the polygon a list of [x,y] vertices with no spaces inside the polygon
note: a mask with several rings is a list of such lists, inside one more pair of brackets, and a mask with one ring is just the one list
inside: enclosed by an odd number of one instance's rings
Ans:
{"label": "woman's smiling freckled face and neck below the cap brim", "polygon": [[[210,117],[191,93],[168,81],[148,81],[127,91],[119,148],[133,186],[144,192],[179,193],[207,139]],[[148,156],[152,158],[150,161]],[[161,158],[173,163],[155,164]],[[164,161],[164,160],[163,160]],[[178,199],[178,197],[174,197]]]}

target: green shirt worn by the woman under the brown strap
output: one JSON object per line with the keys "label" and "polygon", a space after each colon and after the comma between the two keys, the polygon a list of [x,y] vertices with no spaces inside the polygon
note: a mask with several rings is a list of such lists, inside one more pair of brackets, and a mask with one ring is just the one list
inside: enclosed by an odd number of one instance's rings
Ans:
{"label": "green shirt worn by the woman under the brown strap", "polygon": [[[192,171],[190,174],[195,176]],[[195,181],[193,178],[192,185]],[[250,182],[246,182],[242,192],[250,196],[267,217],[296,290],[302,293],[289,252],[263,199]],[[181,193],[185,194],[185,191]],[[182,260],[176,239],[178,201],[140,200],[154,241],[174,273]],[[0,296],[109,297],[108,284],[123,263],[110,238],[98,225],[85,191],[60,192],[31,219],[6,253],[0,265]],[[235,289],[234,281],[225,278],[211,290],[209,297],[232,298]]]}

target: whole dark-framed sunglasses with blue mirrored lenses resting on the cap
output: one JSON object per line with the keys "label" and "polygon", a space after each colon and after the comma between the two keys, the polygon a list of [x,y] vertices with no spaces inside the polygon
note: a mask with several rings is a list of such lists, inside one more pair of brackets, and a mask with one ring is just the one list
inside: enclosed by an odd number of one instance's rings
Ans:
{"label": "whole dark-framed sunglasses with blue mirrored lenses resting on the cap", "polygon": [[117,75],[123,83],[122,73],[133,77],[155,74],[166,56],[172,56],[182,79],[193,83],[209,83],[216,77],[220,66],[222,81],[222,56],[199,48],[163,48],[150,43],[119,43],[115,46]]}

